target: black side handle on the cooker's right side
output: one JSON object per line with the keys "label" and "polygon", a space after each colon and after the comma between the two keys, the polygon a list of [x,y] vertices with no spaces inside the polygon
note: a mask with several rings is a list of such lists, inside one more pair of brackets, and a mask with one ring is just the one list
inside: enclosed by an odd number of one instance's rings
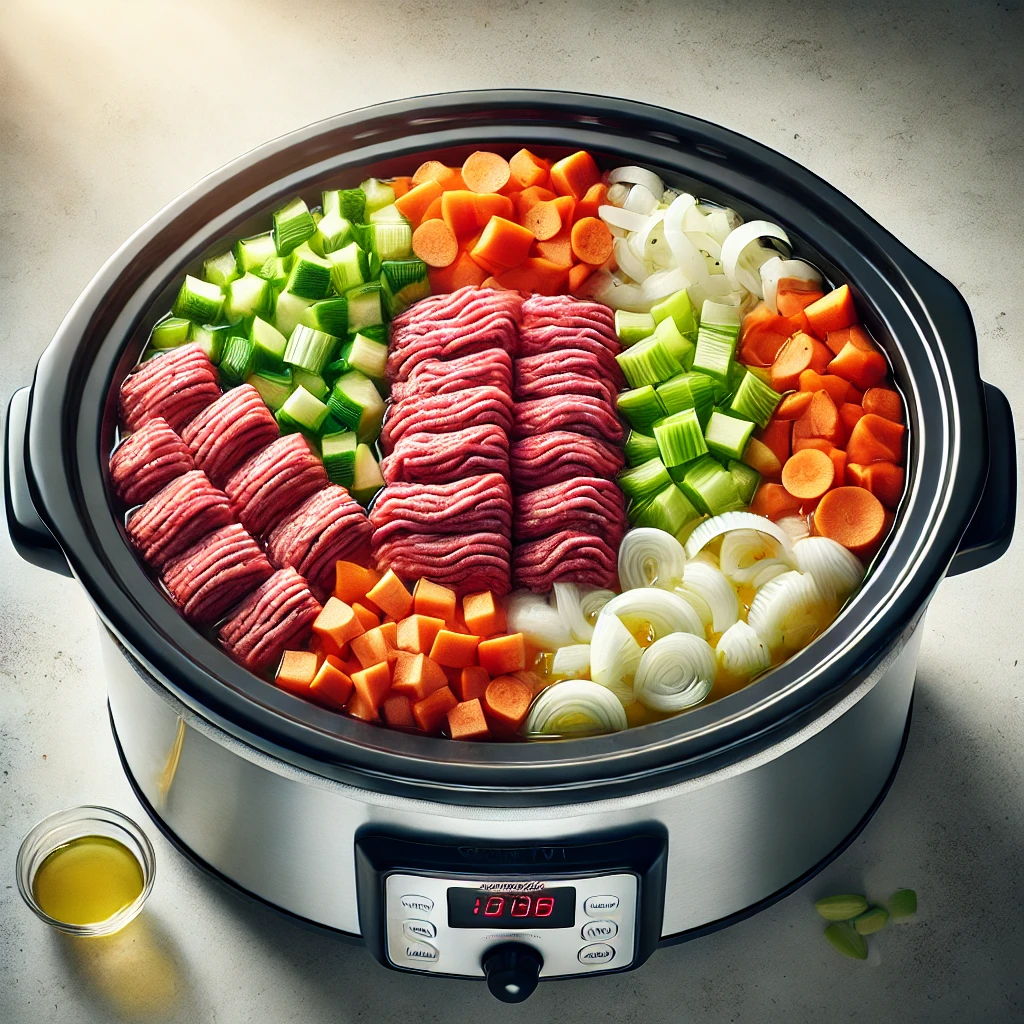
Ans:
{"label": "black side handle on the cooker's right side", "polygon": [[985,384],[988,415],[988,478],[974,518],[961,538],[949,575],[994,562],[1010,547],[1017,517],[1017,443],[1007,396]]}

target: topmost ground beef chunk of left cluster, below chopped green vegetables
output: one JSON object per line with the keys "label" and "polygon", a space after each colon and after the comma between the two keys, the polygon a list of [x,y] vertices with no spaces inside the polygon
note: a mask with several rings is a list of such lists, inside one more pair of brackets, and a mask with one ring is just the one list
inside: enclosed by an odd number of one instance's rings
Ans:
{"label": "topmost ground beef chunk of left cluster, below chopped green vegetables", "polygon": [[121,384],[121,423],[137,430],[147,420],[163,417],[180,431],[198,413],[220,397],[217,372],[196,344],[173,348],[148,359]]}

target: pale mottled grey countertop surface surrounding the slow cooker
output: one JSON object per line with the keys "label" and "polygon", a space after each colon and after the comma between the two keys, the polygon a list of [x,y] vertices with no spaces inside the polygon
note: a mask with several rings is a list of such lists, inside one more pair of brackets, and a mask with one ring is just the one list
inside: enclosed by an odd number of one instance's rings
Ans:
{"label": "pale mottled grey countertop surface surrounding the slow cooker", "polygon": [[[983,375],[1019,423],[1024,416],[1019,3],[3,6],[5,406],[106,257],[223,162],[380,99],[544,86],[686,111],[810,167],[961,289]],[[3,534],[0,1021],[1020,1019],[1021,567],[1018,539],[999,562],[940,586],[902,768],[865,831],[821,876],[639,971],[542,985],[508,1007],[480,985],[385,972],[361,948],[225,890],[174,852],[121,773],[84,592],[22,562]],[[62,939],[14,888],[22,837],[80,803],[121,808],[157,847],[154,895],[117,940]],[[825,945],[816,896],[899,886],[918,890],[918,920],[883,932],[866,964]]]}

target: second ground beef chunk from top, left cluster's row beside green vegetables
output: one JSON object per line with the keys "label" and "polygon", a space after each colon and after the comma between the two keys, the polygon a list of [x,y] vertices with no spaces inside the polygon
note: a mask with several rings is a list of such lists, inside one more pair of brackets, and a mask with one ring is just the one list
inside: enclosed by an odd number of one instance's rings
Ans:
{"label": "second ground beef chunk from top, left cluster's row beside green vegetables", "polygon": [[196,465],[219,485],[279,433],[278,421],[259,391],[243,384],[207,406],[181,431],[181,439]]}

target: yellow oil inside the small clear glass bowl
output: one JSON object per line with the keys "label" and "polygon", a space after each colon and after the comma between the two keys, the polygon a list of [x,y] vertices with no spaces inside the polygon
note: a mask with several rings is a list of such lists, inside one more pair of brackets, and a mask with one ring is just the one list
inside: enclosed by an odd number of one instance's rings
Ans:
{"label": "yellow oil inside the small clear glass bowl", "polygon": [[47,854],[32,894],[39,908],[68,925],[98,925],[131,906],[145,882],[142,866],[106,836],[80,836]]}

